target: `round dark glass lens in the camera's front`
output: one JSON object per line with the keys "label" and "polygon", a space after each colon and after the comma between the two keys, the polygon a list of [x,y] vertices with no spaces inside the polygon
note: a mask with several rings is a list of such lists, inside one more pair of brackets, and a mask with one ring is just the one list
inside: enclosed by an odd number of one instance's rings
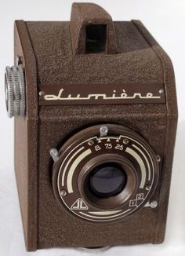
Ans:
{"label": "round dark glass lens in the camera's front", "polygon": [[103,163],[91,172],[89,187],[95,196],[107,198],[122,192],[127,182],[127,175],[122,166],[116,163]]}

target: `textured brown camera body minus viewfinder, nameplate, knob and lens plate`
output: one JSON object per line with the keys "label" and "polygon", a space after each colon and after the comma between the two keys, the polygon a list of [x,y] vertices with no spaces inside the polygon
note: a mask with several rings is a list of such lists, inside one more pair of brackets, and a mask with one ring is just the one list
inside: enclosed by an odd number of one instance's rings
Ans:
{"label": "textured brown camera body minus viewfinder, nameplate, knob and lens plate", "polygon": [[[94,7],[86,8],[89,12]],[[102,9],[96,9],[97,20],[98,15],[102,23]],[[27,251],[162,243],[177,123],[172,63],[140,21],[112,23],[114,54],[76,53],[71,24],[23,20],[15,24],[15,57],[23,57],[27,93],[27,115],[15,119],[15,170]],[[165,104],[38,106],[41,85],[112,86],[118,82],[136,86],[162,83]],[[158,207],[143,207],[114,224],[93,224],[67,214],[56,202],[51,181],[53,160],[49,149],[60,149],[74,133],[101,123],[127,126],[140,133],[155,154],[161,156],[158,187],[152,197]]]}

